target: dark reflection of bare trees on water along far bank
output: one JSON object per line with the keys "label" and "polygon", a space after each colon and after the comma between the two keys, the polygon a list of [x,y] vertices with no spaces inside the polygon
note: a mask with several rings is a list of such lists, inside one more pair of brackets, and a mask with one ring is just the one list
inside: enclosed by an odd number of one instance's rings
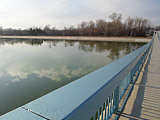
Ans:
{"label": "dark reflection of bare trees on water along far bank", "polygon": [[105,52],[110,51],[108,57],[112,60],[117,59],[120,57],[120,52],[124,52],[125,54],[130,53],[131,51],[135,50],[136,48],[144,45],[144,43],[122,43],[122,42],[90,42],[90,41],[63,41],[63,40],[41,40],[41,39],[1,39],[0,46],[5,44],[8,45],[15,45],[15,44],[28,44],[32,46],[41,46],[43,44],[47,44],[48,48],[56,47],[58,43],[63,42],[63,47],[73,47],[75,44],[78,43],[78,49],[85,51],[85,52]]}

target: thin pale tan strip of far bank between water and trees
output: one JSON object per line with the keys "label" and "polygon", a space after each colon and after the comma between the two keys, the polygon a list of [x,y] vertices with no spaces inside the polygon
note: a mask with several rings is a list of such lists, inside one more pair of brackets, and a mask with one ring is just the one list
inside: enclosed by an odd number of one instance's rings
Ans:
{"label": "thin pale tan strip of far bank between water and trees", "polygon": [[101,41],[101,42],[135,42],[147,43],[151,38],[144,37],[86,37],[86,36],[0,36],[0,39],[51,39],[73,41]]}

